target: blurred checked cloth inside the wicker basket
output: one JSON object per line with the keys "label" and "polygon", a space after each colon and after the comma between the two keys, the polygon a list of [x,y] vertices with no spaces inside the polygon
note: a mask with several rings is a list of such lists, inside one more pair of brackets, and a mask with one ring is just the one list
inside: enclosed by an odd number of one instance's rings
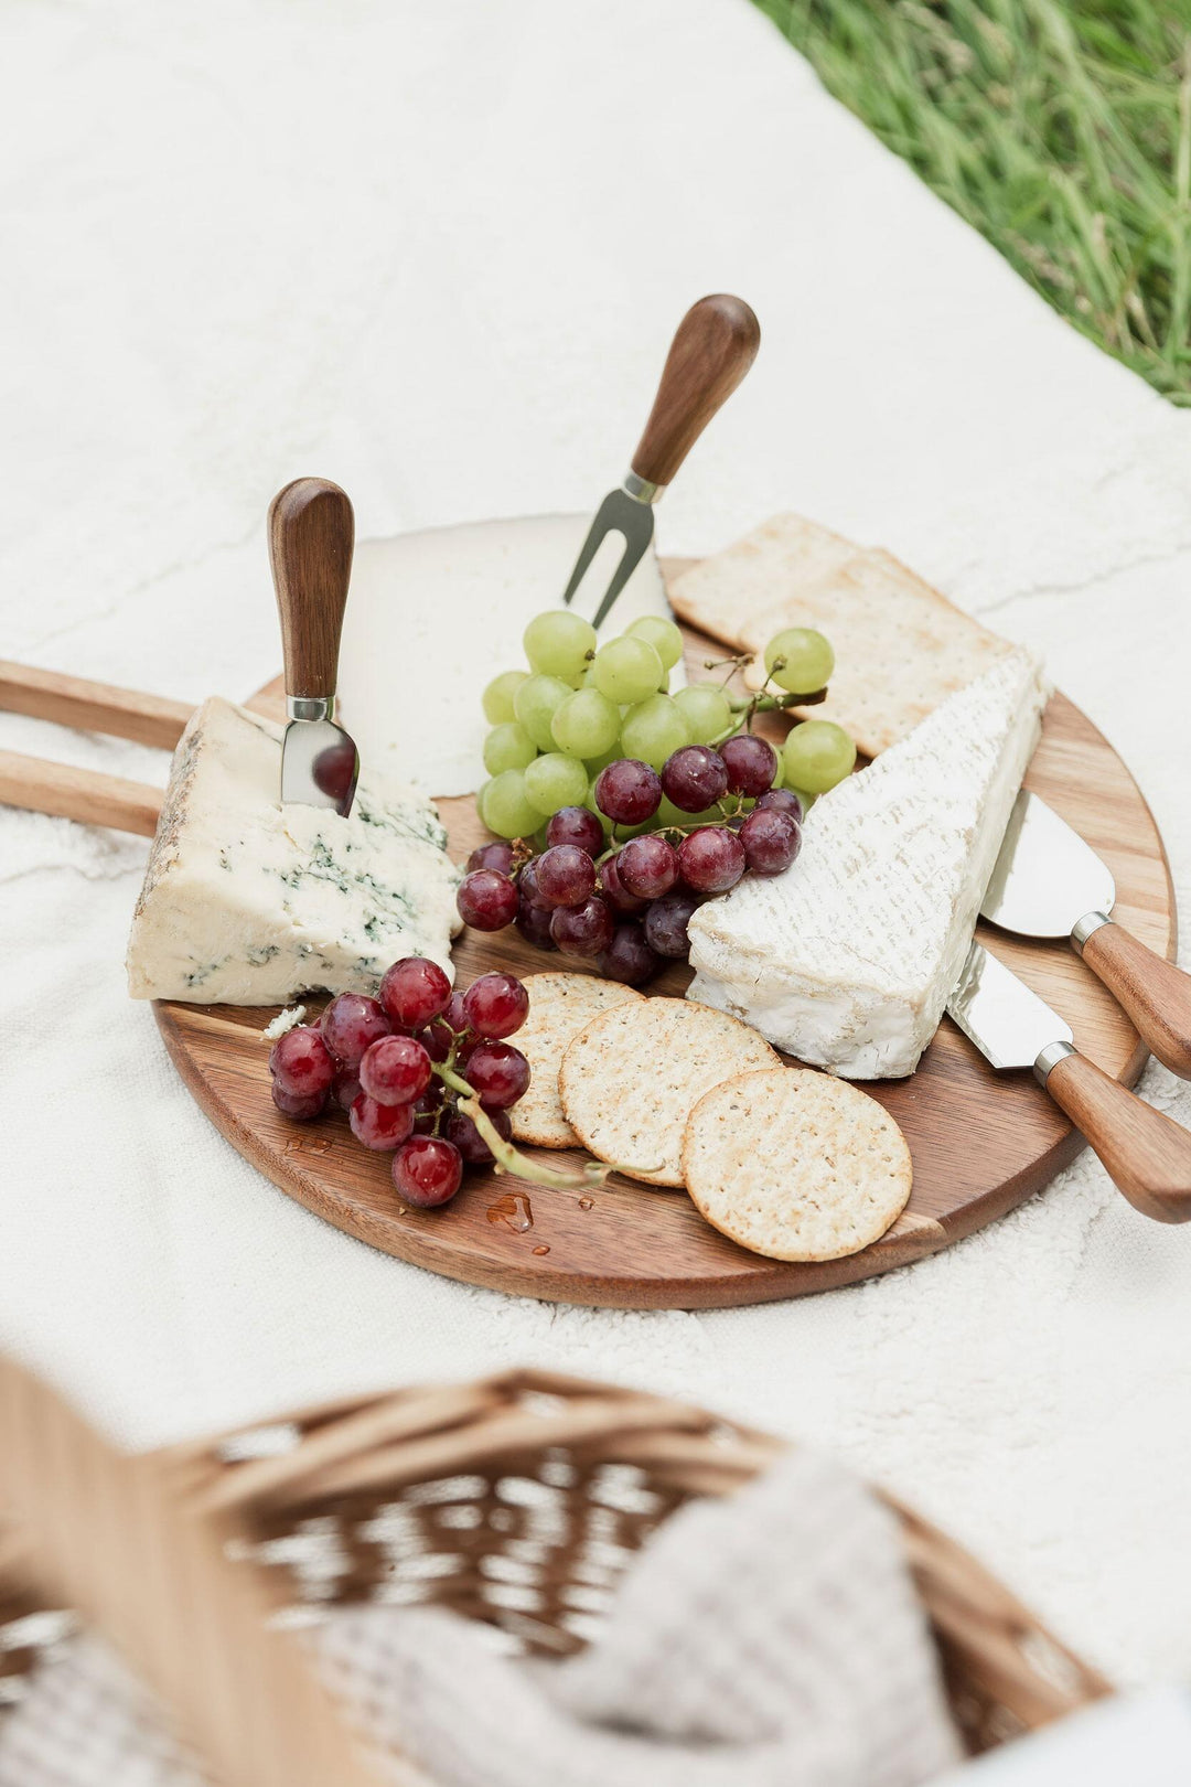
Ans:
{"label": "blurred checked cloth inside the wicker basket", "polygon": [[[427,1608],[316,1637],[373,1751],[436,1787],[916,1787],[961,1753],[893,1515],[805,1449],[668,1521],[568,1662]],[[0,1724],[0,1787],[200,1780],[91,1642]]]}

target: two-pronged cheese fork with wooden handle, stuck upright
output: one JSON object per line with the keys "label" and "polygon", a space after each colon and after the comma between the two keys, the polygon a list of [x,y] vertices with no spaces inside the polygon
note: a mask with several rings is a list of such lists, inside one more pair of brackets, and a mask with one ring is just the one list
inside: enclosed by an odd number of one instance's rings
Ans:
{"label": "two-pronged cheese fork with wooden handle, stuck upright", "polygon": [[562,591],[562,600],[570,606],[605,538],[623,534],[625,550],[591,617],[596,631],[648,550],[654,504],[752,366],[759,345],[761,323],[743,298],[729,293],[700,298],[679,323],[625,481],[618,490],[609,490],[596,509]]}

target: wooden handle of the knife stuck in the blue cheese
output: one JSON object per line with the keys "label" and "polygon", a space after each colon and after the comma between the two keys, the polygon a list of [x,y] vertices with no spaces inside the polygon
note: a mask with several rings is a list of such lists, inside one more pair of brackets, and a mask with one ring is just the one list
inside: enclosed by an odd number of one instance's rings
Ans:
{"label": "wooden handle of the knife stuck in the blue cheese", "polygon": [[287,695],[325,699],[336,692],[354,545],[352,504],[325,477],[298,477],[270,502]]}

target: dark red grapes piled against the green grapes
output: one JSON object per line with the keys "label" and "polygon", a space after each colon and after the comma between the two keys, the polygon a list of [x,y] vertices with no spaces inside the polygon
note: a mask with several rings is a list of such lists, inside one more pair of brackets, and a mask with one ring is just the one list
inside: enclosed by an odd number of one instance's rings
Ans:
{"label": "dark red grapes piled against the green grapes", "polygon": [[779,876],[798,856],[802,801],[773,786],[777,774],[777,752],[754,733],[718,751],[682,745],[661,774],[618,758],[596,777],[596,811],[554,813],[539,856],[523,840],[473,851],[459,915],[477,931],[516,924],[539,949],[595,958],[609,979],[639,986],[686,960],[704,899],[746,872]]}

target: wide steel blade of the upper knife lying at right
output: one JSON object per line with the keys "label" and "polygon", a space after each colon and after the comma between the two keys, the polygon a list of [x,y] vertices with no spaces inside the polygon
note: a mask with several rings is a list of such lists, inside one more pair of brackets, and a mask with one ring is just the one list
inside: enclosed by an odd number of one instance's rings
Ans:
{"label": "wide steel blade of the upper knife lying at right", "polygon": [[1021,936],[1070,936],[1084,913],[1111,913],[1114,901],[1116,883],[1093,847],[1023,788],[980,913]]}

